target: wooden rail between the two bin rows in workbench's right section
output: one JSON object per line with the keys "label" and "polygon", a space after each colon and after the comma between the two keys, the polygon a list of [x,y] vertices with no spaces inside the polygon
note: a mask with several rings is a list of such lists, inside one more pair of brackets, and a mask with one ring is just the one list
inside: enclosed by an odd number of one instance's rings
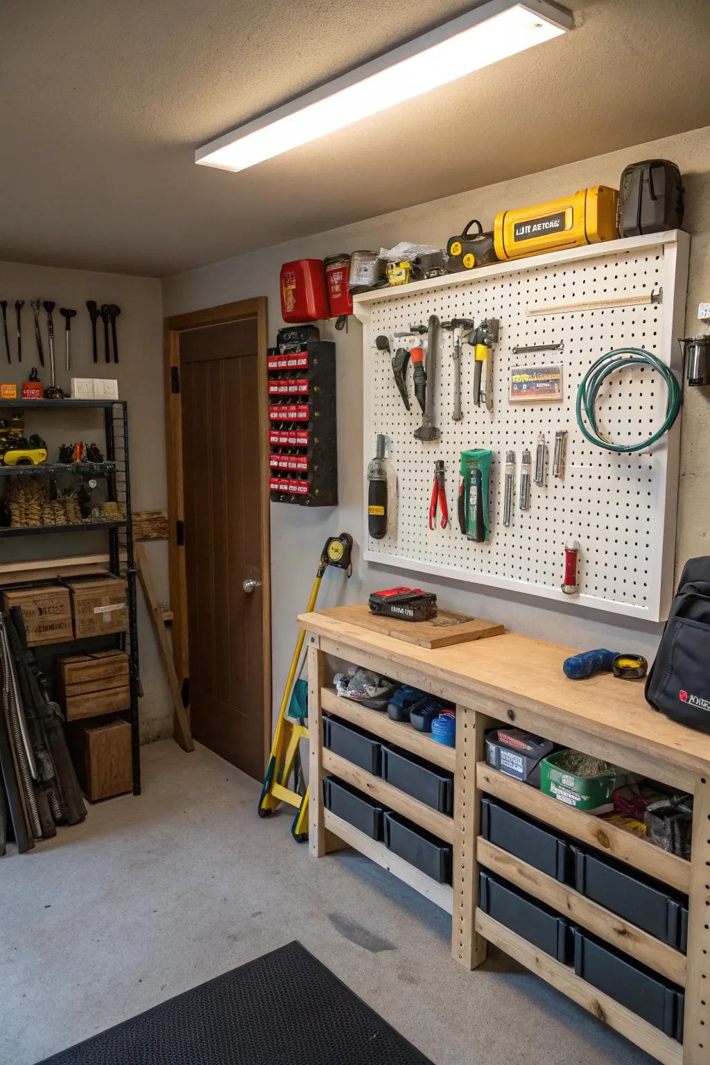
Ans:
{"label": "wooden rail between the two bin rows in workbench's right section", "polygon": [[585,899],[566,884],[561,884],[533,866],[521,862],[514,854],[509,854],[490,843],[482,836],[478,837],[476,852],[480,864],[491,872],[498,873],[511,884],[547,903],[568,920],[581,924],[589,932],[594,932],[617,950],[631,954],[637,962],[660,972],[667,980],[681,987],[686,986],[686,955],[679,950],[661,943],[648,932],[617,917],[591,899]]}

